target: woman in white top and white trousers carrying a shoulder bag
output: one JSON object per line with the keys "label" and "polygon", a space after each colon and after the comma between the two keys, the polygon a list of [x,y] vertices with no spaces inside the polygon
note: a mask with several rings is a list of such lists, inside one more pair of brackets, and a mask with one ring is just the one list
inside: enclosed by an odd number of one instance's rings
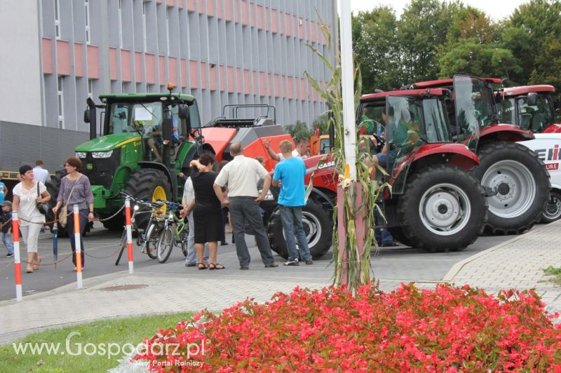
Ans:
{"label": "woman in white top and white trousers carrying a shoulder bag", "polygon": [[[18,212],[22,239],[27,245],[27,273],[39,269],[41,258],[37,254],[39,231],[45,224],[45,215],[37,209],[37,203],[50,201],[50,194],[42,182],[33,179],[33,169],[29,165],[20,167],[22,181],[13,189],[13,210]],[[37,193],[39,188],[39,193]],[[40,195],[40,196],[39,196]]]}

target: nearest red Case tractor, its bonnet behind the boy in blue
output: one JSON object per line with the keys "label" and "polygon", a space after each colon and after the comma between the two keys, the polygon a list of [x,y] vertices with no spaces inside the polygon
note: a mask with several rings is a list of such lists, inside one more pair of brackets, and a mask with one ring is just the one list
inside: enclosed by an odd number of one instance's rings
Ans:
{"label": "nearest red Case tractor, its bonnet behind the boy in blue", "polygon": [[[447,93],[436,88],[363,95],[358,108],[357,121],[364,120],[364,113],[382,124],[386,134],[385,140],[374,137],[379,144],[387,142],[384,167],[392,191],[386,190],[379,203],[388,229],[400,242],[431,252],[463,250],[487,221],[485,191],[470,174],[479,159],[464,144],[452,142],[443,100]],[[306,158],[304,163],[309,169],[306,183],[313,171],[313,189],[303,209],[304,229],[311,254],[318,258],[331,247],[337,177],[334,163],[325,156]],[[268,233],[273,250],[286,257],[277,212]]]}

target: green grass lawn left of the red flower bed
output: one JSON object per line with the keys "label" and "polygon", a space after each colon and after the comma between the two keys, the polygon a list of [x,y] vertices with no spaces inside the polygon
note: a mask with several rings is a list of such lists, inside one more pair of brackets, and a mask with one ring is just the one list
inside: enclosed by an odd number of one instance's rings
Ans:
{"label": "green grass lawn left of the red flower bed", "polygon": [[[84,325],[74,325],[61,329],[45,330],[29,334],[18,339],[15,344],[41,343],[59,344],[58,353],[31,353],[29,349],[25,354],[17,354],[13,344],[0,346],[0,371],[1,372],[105,372],[116,367],[117,360],[123,358],[124,353],[112,355],[111,351],[130,351],[132,344],[137,346],[143,338],[152,337],[159,329],[175,327],[181,319],[191,317],[191,313],[173,313],[157,316],[141,316],[137,318],[122,318],[118,320],[95,321]],[[69,337],[72,332],[78,332]],[[67,338],[69,337],[67,351]],[[109,346],[109,344],[117,344]],[[31,345],[28,345],[29,348]],[[43,345],[45,346],[45,345]],[[81,348],[81,354],[77,354]],[[103,353],[102,348],[106,352]],[[121,350],[122,348],[122,350]],[[76,354],[76,355],[71,355]]]}

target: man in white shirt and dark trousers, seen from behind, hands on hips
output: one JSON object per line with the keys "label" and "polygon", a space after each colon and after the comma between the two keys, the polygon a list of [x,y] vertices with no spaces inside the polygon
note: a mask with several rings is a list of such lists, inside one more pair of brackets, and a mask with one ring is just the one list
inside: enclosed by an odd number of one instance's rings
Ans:
{"label": "man in white shirt and dark trousers, seen from behind, hands on hips", "polygon": [[[264,200],[269,191],[271,175],[259,161],[243,156],[243,149],[239,142],[231,144],[230,154],[234,159],[220,170],[213,188],[222,205],[229,207],[240,269],[249,269],[251,261],[248,245],[245,243],[244,222],[255,236],[265,268],[276,267],[278,264],[274,262],[258,204]],[[255,183],[257,175],[264,178],[261,194],[258,193]],[[228,198],[222,194],[222,187],[226,184],[228,184]]]}

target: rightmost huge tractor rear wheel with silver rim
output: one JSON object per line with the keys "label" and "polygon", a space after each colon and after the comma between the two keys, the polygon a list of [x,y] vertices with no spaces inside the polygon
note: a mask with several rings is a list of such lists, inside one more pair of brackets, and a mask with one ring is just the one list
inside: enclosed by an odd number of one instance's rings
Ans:
{"label": "rightmost huge tractor rear wheel with silver rim", "polygon": [[487,191],[487,233],[518,234],[540,221],[549,201],[549,179],[534,151],[515,142],[493,142],[478,151],[480,164],[471,170]]}

